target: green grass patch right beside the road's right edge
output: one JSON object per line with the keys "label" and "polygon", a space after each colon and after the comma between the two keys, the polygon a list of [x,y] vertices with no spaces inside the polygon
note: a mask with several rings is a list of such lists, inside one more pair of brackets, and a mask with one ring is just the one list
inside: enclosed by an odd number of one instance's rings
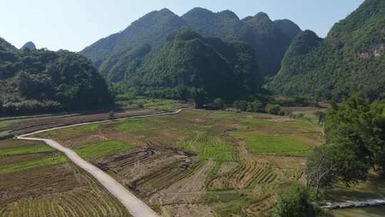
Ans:
{"label": "green grass patch right beside the road's right edge", "polygon": [[76,153],[82,158],[96,159],[103,156],[109,156],[113,153],[123,152],[133,148],[122,141],[102,141],[97,143],[88,143],[76,150]]}

